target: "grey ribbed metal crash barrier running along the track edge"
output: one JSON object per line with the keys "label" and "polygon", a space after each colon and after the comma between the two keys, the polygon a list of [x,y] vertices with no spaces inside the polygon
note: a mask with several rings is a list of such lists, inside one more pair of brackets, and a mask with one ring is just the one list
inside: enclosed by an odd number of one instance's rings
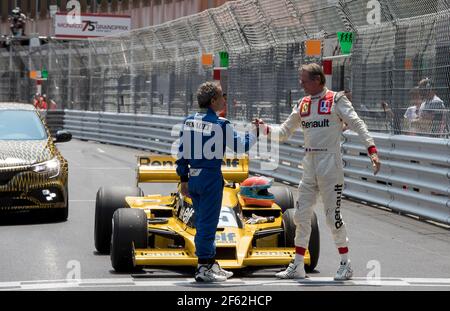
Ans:
{"label": "grey ribbed metal crash barrier running along the track edge", "polygon": [[[54,122],[61,114],[48,118]],[[56,114],[56,113],[55,113]],[[170,153],[177,139],[174,125],[182,118],[66,110],[64,129],[74,138]],[[54,122],[57,124],[57,122]],[[358,136],[343,134],[344,195],[404,214],[450,224],[450,142],[419,136],[373,133],[382,166],[372,173],[367,150]],[[250,163],[252,173],[298,184],[302,176],[303,136],[298,131],[279,146],[279,165],[262,170],[261,161]]]}

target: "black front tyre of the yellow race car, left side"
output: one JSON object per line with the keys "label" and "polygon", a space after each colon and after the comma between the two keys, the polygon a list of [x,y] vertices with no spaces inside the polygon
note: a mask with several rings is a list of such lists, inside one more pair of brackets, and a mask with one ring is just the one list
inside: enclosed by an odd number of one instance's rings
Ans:
{"label": "black front tyre of the yellow race car, left side", "polygon": [[134,265],[134,249],[147,248],[147,214],[144,210],[120,208],[112,221],[111,264],[117,272],[131,272],[140,267]]}

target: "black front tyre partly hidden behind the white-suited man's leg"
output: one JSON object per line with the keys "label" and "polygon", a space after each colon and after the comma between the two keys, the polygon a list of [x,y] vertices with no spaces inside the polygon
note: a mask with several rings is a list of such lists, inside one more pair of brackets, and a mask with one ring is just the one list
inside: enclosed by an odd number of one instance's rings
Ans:
{"label": "black front tyre partly hidden behind the white-suited man's leg", "polygon": [[[284,236],[282,236],[280,240],[280,246],[282,247],[295,247],[294,213],[294,209],[288,209],[283,213]],[[309,265],[305,265],[305,270],[306,272],[312,272],[316,268],[320,256],[320,233],[316,213],[313,213],[311,218],[311,235],[309,238],[308,251],[311,262]]]}

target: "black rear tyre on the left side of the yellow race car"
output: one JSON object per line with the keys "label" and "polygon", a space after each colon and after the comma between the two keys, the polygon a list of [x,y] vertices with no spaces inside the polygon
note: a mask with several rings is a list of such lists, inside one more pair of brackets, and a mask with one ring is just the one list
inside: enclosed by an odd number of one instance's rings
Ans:
{"label": "black rear tyre on the left side of the yellow race car", "polygon": [[109,254],[111,247],[112,217],[119,208],[126,208],[126,196],[144,196],[139,187],[101,187],[95,200],[95,248]]}

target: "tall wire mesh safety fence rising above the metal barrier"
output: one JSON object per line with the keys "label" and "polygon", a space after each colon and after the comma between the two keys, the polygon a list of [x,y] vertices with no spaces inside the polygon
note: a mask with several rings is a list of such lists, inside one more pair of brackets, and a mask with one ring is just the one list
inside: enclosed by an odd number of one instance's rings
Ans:
{"label": "tall wire mesh safety fence rising above the metal barrier", "polygon": [[[352,54],[333,59],[332,85],[352,90],[369,129],[448,137],[449,20],[446,0],[232,1],[112,37],[36,48],[13,42],[0,50],[0,99],[30,101],[36,87],[28,73],[45,68],[43,92],[60,108],[182,116],[213,77],[202,55],[226,51],[228,117],[279,123],[304,95],[298,68],[311,61],[306,40],[322,40],[322,56],[336,56],[336,33],[350,31]],[[414,88],[425,78],[431,99],[417,103]]]}

